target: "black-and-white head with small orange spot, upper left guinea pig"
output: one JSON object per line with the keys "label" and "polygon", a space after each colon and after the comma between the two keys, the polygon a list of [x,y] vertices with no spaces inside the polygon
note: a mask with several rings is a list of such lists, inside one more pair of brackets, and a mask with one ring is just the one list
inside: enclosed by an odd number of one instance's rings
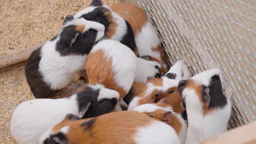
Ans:
{"label": "black-and-white head with small orange spot, upper left guinea pig", "polygon": [[61,55],[84,55],[88,54],[103,36],[104,26],[101,23],[67,15],[59,34],[51,41],[57,40],[56,50]]}

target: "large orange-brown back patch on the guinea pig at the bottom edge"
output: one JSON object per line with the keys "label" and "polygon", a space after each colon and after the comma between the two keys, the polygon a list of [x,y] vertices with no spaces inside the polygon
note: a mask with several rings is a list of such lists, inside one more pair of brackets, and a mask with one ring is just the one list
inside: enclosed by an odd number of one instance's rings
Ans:
{"label": "large orange-brown back patch on the guinea pig at the bottom edge", "polygon": [[[69,125],[66,137],[68,143],[124,143],[132,144],[133,137],[136,134],[137,128],[145,127],[154,119],[136,111],[121,111],[107,113],[106,115],[98,116],[96,121],[91,125],[90,129],[84,130],[83,123],[89,119],[81,119],[78,121],[62,121],[59,125],[59,130],[66,125]],[[131,121],[132,119],[132,121]],[[55,126],[56,127],[56,126]],[[57,133],[54,131],[54,133]]]}

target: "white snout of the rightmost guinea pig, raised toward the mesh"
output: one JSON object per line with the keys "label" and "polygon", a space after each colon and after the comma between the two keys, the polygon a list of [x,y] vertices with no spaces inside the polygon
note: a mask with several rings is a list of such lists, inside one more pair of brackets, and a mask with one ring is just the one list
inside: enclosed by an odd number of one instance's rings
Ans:
{"label": "white snout of the rightmost guinea pig, raised toward the mesh", "polygon": [[200,74],[194,75],[191,79],[195,80],[200,85],[209,86],[210,85],[210,78],[213,75],[219,75],[220,76],[220,70],[219,69],[210,69],[203,71]]}

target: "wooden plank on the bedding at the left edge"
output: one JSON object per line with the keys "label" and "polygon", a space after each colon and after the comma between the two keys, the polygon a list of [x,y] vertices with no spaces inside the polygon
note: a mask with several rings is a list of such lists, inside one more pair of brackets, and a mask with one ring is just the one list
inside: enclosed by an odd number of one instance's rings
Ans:
{"label": "wooden plank on the bedding at the left edge", "polygon": [[26,49],[16,50],[13,53],[10,53],[8,55],[1,55],[0,56],[0,69],[2,69],[4,67],[8,67],[9,65],[15,65],[17,63],[27,61],[31,52],[38,49],[38,47],[40,47],[42,45],[43,45],[43,43],[31,46],[31,47],[27,47]]}

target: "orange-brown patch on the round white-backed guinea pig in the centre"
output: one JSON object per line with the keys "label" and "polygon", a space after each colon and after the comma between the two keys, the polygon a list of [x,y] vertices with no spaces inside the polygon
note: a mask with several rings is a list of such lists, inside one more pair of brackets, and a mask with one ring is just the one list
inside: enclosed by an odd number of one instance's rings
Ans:
{"label": "orange-brown patch on the round white-backed guinea pig in the centre", "polygon": [[126,95],[124,88],[115,83],[112,59],[107,58],[103,50],[98,50],[89,54],[85,69],[88,74],[89,83],[92,85],[101,83],[104,87],[119,92],[119,100],[122,100]]}

